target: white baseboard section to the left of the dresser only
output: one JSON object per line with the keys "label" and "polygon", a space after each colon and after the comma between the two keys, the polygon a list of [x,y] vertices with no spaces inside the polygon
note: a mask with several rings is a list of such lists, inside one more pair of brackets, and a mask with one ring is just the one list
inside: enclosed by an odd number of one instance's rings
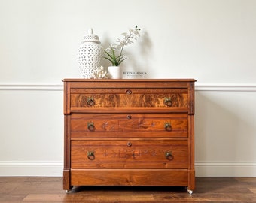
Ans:
{"label": "white baseboard section to the left of the dresser only", "polygon": [[62,171],[62,162],[0,162],[0,177],[62,177]]}

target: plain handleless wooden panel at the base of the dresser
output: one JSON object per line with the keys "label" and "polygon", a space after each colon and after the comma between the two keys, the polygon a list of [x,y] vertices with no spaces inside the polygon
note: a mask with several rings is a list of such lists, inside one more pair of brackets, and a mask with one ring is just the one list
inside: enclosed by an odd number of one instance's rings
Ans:
{"label": "plain handleless wooden panel at the base of the dresser", "polygon": [[84,169],[71,171],[72,186],[188,186],[178,169]]}

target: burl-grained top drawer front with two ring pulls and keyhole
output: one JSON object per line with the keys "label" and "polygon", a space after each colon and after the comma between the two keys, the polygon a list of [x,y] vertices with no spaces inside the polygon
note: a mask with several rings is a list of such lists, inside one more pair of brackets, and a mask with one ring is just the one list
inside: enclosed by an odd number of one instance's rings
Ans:
{"label": "burl-grained top drawer front with two ring pulls and keyhole", "polygon": [[187,89],[71,89],[71,108],[187,108]]}

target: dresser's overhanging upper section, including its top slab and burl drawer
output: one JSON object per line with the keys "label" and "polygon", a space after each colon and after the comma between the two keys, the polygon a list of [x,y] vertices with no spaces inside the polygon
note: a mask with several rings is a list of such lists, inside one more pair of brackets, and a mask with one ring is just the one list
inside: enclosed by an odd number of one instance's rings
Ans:
{"label": "dresser's overhanging upper section, including its top slab and burl drawer", "polygon": [[194,114],[194,80],[64,80],[64,114],[130,111]]}

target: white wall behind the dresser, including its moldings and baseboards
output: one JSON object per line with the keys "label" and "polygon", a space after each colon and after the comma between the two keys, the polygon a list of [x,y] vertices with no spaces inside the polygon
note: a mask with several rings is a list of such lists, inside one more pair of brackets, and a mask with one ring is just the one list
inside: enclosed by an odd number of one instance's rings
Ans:
{"label": "white wall behind the dresser, including its moldings and baseboards", "polygon": [[[197,176],[256,176],[256,2],[0,0],[0,176],[62,175],[62,78],[93,27],[126,70],[195,78]],[[107,65],[107,64],[105,64]]]}

